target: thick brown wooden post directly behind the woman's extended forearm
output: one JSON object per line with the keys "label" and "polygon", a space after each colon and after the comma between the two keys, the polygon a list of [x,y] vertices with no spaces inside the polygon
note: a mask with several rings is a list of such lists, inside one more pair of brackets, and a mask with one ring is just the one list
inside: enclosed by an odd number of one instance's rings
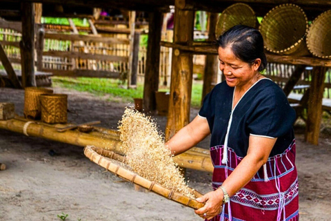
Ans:
{"label": "thick brown wooden post directly behind the woman's extended forearm", "polygon": [[[184,11],[175,7],[174,44],[193,41],[193,28],[194,11]],[[165,128],[166,140],[169,140],[190,122],[192,69],[192,54],[174,49],[172,51],[168,122]]]}

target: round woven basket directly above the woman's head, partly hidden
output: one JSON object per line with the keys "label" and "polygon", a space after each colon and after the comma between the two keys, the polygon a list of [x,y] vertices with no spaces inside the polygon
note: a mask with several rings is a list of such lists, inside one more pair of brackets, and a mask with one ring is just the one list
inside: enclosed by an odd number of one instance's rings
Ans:
{"label": "round woven basket directly above the woman's head, partly hidden", "polygon": [[229,30],[233,26],[245,25],[255,27],[257,24],[257,17],[254,10],[244,3],[235,3],[228,8],[225,8],[219,19],[215,30],[216,38],[222,35],[223,32]]}

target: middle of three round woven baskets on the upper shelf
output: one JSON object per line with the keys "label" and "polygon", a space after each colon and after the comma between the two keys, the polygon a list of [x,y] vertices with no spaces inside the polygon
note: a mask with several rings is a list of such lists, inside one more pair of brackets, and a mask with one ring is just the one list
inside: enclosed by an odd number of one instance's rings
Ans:
{"label": "middle of three round woven baskets on the upper shelf", "polygon": [[266,50],[279,55],[308,55],[304,38],[308,30],[305,12],[294,4],[283,4],[272,8],[259,30]]}

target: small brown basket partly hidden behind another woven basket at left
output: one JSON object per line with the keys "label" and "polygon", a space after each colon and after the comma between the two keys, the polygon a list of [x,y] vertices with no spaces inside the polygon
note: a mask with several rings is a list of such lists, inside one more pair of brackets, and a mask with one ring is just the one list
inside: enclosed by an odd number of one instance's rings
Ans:
{"label": "small brown basket partly hidden behind another woven basket at left", "polygon": [[40,119],[40,95],[52,94],[53,90],[46,88],[29,87],[25,89],[24,94],[24,117],[28,119]]}

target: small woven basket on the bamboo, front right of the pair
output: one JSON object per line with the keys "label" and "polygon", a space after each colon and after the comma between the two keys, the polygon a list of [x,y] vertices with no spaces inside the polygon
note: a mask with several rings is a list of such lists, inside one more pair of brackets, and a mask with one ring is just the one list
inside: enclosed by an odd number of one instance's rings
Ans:
{"label": "small woven basket on the bamboo, front right of the pair", "polygon": [[41,95],[41,121],[47,124],[67,122],[68,95]]}

